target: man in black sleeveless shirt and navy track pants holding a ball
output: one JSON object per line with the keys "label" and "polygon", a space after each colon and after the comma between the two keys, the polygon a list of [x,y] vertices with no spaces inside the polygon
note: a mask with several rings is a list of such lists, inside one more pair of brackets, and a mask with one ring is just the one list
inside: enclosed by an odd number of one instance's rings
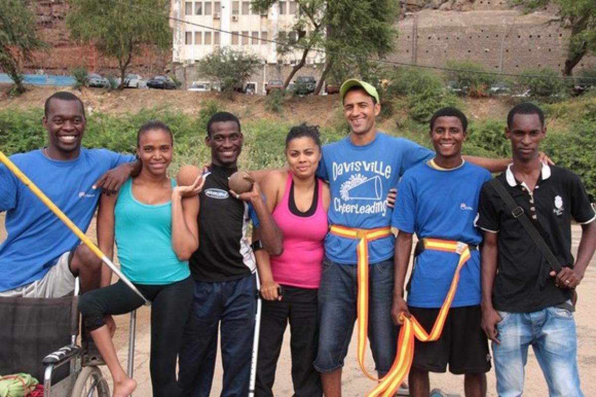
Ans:
{"label": "man in black sleeveless shirt and navy track pants holding a ball", "polygon": [[211,148],[211,173],[199,195],[199,247],[190,259],[195,291],[180,349],[179,384],[183,396],[209,397],[221,329],[221,395],[246,396],[257,294],[254,255],[247,239],[249,218],[271,255],[283,250],[281,232],[257,182],[248,193],[229,191],[228,178],[238,169],[243,143],[237,117],[227,112],[213,115],[205,142]]}

